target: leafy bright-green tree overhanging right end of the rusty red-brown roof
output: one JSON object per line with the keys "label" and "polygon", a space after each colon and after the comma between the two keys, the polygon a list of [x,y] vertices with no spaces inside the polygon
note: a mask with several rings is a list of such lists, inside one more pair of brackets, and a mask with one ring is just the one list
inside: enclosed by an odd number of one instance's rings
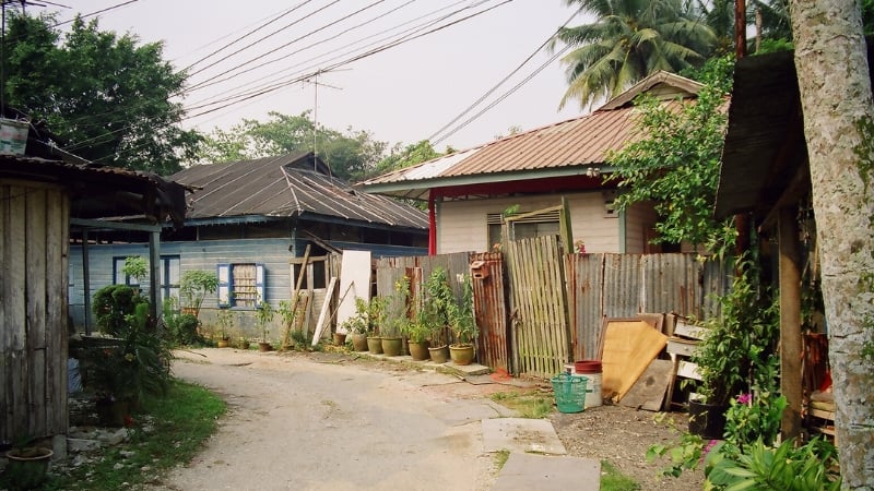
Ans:
{"label": "leafy bright-green tree overhanging right end of the rusty red-brown roof", "polygon": [[654,97],[637,100],[643,137],[607,156],[618,181],[616,206],[652,202],[659,219],[657,242],[707,244],[718,251],[733,243],[730,223],[713,219],[719,168],[731,89],[733,57],[714,58],[698,77],[705,87],[695,104],[677,111]]}

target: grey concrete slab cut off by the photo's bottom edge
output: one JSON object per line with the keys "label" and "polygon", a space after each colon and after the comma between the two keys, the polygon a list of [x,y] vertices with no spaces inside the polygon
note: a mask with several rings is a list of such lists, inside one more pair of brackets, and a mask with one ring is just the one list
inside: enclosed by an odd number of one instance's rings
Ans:
{"label": "grey concrete slab cut off by the photo's bottom edge", "polygon": [[598,491],[601,463],[593,458],[510,453],[492,491]]}

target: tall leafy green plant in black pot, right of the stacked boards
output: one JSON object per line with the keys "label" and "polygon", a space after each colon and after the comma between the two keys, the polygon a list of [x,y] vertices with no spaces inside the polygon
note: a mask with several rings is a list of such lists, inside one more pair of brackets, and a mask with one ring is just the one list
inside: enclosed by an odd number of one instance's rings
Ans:
{"label": "tall leafy green plant in black pot, right of the stacked boards", "polygon": [[731,290],[720,306],[721,315],[704,323],[707,335],[690,357],[700,381],[689,396],[689,431],[710,439],[722,438],[731,399],[749,393],[757,372],[767,371],[779,333],[778,306],[745,256],[737,260]]}

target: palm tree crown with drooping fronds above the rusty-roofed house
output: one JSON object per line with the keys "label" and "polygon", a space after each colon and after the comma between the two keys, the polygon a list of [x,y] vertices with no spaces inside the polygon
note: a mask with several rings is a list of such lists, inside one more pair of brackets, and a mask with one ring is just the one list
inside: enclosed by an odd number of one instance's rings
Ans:
{"label": "palm tree crown with drooping fronds above the rusty-roofed house", "polygon": [[576,47],[562,62],[568,65],[568,88],[559,107],[579,99],[586,107],[618,95],[659,70],[678,72],[701,64],[717,38],[683,0],[566,0],[597,21],[563,27],[553,46]]}

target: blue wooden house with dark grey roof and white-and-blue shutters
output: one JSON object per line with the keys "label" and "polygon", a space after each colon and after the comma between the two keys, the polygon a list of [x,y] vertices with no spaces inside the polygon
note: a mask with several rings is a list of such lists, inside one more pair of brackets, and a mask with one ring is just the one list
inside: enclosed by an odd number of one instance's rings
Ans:
{"label": "blue wooden house with dark grey roof and white-and-blue shutters", "polygon": [[[188,209],[182,227],[161,233],[161,298],[178,297],[182,272],[215,271],[220,289],[206,297],[200,315],[208,327],[218,308],[231,308],[240,312],[240,334],[250,335],[257,303],[275,308],[288,300],[298,277],[302,289],[312,292],[310,303],[320,306],[339,268],[333,258],[343,250],[367,250],[374,258],[427,253],[424,212],[353,189],[312,153],[194,166],[169,180],[189,190]],[[128,256],[147,254],[147,238],[105,230],[92,231],[87,242],[92,296],[110,284],[145,284],[126,277],[122,266]],[[80,327],[85,256],[72,249],[70,310]]]}

